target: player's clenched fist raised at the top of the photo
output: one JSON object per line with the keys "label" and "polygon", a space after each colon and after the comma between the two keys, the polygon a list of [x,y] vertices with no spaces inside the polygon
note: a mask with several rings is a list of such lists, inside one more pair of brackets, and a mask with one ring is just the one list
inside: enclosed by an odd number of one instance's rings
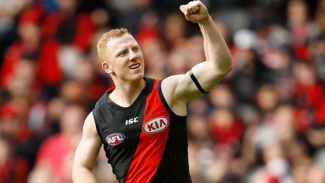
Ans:
{"label": "player's clenched fist raised at the top of the photo", "polygon": [[186,5],[181,5],[179,9],[184,13],[187,20],[194,23],[200,23],[209,17],[207,8],[199,0],[190,1]]}

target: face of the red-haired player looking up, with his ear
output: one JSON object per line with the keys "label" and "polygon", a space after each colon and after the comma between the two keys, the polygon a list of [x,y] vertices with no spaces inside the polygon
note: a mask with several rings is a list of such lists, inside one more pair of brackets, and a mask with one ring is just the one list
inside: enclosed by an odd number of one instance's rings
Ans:
{"label": "face of the red-haired player looking up, with his ear", "polygon": [[102,65],[107,73],[120,80],[142,79],[144,76],[143,55],[132,35],[125,33],[107,42],[108,61]]}

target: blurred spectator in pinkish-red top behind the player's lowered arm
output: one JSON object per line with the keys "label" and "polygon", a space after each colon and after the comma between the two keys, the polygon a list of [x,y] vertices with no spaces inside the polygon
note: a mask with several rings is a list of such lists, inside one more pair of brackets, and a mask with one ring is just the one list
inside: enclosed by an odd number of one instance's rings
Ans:
{"label": "blurred spectator in pinkish-red top behind the player's lowered arm", "polygon": [[84,117],[85,109],[82,105],[64,106],[59,119],[60,132],[41,143],[30,182],[43,182],[43,173],[51,174],[58,182],[71,182],[73,152],[81,138]]}

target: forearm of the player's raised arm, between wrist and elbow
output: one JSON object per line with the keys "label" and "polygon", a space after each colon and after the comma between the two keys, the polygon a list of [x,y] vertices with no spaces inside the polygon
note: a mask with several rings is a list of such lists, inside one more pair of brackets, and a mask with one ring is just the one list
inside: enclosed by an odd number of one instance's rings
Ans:
{"label": "forearm of the player's raised arm, between wrist and elbow", "polygon": [[199,22],[198,25],[204,39],[206,60],[219,71],[229,72],[232,68],[231,54],[212,18],[208,16],[206,20]]}

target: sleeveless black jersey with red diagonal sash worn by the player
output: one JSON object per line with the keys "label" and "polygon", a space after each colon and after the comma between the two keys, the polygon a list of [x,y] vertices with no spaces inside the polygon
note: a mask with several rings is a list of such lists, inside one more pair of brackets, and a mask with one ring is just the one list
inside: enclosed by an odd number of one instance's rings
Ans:
{"label": "sleeveless black jersey with red diagonal sash worn by the player", "polygon": [[119,183],[191,182],[186,116],[171,111],[161,80],[145,80],[130,106],[121,107],[108,98],[112,87],[92,110],[108,163]]}

